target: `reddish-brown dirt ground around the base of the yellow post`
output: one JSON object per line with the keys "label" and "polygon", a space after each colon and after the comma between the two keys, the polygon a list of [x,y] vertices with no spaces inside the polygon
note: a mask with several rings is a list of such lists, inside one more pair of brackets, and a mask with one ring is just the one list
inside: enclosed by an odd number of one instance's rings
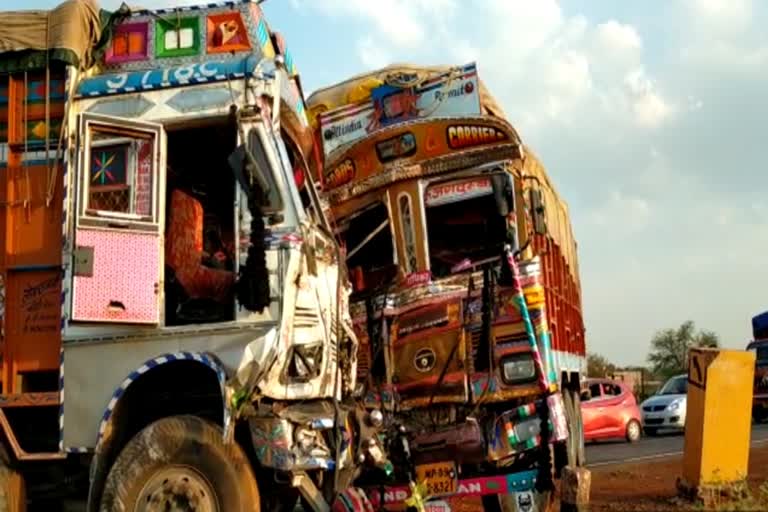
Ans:
{"label": "reddish-brown dirt ground around the base of the yellow post", "polygon": [[[635,464],[604,466],[592,470],[590,512],[657,512],[704,510],[677,498],[676,481],[682,459],[671,457]],[[768,482],[768,446],[753,447],[749,457],[748,484],[752,499],[720,503],[714,510],[766,510],[761,486]],[[765,489],[765,488],[764,488]],[[557,509],[556,509],[557,510]]]}

